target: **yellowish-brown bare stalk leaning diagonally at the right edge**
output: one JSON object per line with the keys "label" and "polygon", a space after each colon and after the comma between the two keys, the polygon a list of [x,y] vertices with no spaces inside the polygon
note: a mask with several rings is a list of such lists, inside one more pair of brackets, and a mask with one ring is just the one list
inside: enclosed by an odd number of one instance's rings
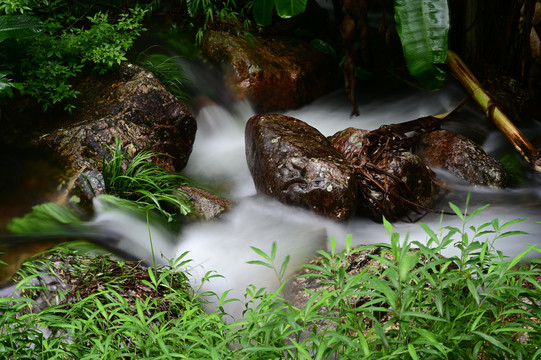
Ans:
{"label": "yellowish-brown bare stalk leaning diagonally at the right edge", "polygon": [[449,65],[451,74],[453,74],[453,76],[460,81],[462,86],[466,88],[468,93],[475,99],[477,104],[481,106],[483,111],[487,113],[488,118],[503,133],[507,140],[511,142],[515,149],[517,149],[535,170],[541,171],[541,156],[537,149],[530,143],[526,136],[513,125],[504,112],[497,105],[492,103],[490,96],[483,90],[477,78],[454,51],[449,50],[447,52],[447,64]]}

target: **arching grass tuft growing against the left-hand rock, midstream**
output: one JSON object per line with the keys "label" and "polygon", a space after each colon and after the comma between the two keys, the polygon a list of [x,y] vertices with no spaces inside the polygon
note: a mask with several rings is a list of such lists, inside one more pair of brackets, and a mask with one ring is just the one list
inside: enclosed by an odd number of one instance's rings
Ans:
{"label": "arching grass tuft growing against the left-hand rock, midstream", "polygon": [[130,158],[117,137],[111,159],[103,159],[103,183],[107,194],[133,200],[145,210],[157,210],[173,222],[179,213],[186,215],[191,211],[190,202],[180,189],[188,181],[150,161],[159,156],[166,155],[143,150]]}

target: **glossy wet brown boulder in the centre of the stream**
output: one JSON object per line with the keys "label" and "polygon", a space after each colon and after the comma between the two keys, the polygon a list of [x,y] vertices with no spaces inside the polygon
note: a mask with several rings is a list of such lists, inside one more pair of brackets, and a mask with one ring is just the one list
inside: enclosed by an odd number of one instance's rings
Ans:
{"label": "glossy wet brown boulder in the centre of the stream", "polygon": [[318,130],[285,115],[257,115],[246,125],[246,158],[259,193],[336,220],[351,216],[353,169]]}

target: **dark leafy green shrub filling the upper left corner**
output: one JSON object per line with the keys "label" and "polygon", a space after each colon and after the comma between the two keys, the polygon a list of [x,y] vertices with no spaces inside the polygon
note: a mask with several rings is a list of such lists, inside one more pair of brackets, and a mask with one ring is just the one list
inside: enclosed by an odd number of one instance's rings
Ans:
{"label": "dark leafy green shrub filling the upper left corner", "polygon": [[78,95],[71,80],[85,68],[103,74],[126,60],[151,5],[119,11],[111,4],[116,9],[111,12],[96,10],[100,7],[93,2],[1,1],[0,11],[9,15],[0,16],[0,84],[20,84],[17,88],[44,110],[61,103],[71,111]]}

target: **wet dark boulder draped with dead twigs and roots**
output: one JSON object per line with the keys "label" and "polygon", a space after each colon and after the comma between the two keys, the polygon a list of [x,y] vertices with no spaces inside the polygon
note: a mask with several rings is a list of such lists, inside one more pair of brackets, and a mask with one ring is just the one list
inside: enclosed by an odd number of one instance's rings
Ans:
{"label": "wet dark boulder draped with dead twigs and roots", "polygon": [[422,212],[437,198],[435,174],[401,139],[382,129],[347,128],[330,137],[351,162],[358,184],[358,205],[376,220],[399,220]]}

